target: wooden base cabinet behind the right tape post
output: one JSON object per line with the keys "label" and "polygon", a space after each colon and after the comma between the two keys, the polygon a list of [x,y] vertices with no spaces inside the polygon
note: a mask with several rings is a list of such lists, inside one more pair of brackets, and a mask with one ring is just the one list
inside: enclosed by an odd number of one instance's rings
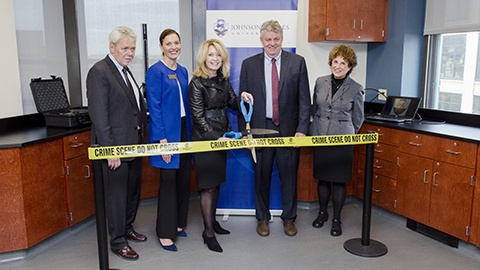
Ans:
{"label": "wooden base cabinet behind the right tape post", "polygon": [[[364,124],[360,133],[378,133],[378,143],[374,146],[372,204],[396,211],[396,186],[398,173],[398,143],[402,131]],[[354,194],[363,199],[365,180],[366,146],[355,146]]]}

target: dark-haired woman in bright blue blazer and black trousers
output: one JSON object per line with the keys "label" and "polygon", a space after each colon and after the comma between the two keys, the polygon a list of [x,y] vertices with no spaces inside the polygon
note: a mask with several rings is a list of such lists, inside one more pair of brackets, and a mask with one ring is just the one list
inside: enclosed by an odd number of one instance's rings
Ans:
{"label": "dark-haired woman in bright blue blazer and black trousers", "polygon": [[[188,141],[188,72],[177,63],[182,50],[180,35],[165,29],[159,39],[163,58],[148,69],[146,76],[150,142]],[[169,251],[177,251],[177,236],[187,236],[184,228],[190,195],[190,159],[189,154],[149,157],[152,166],[161,169],[156,230],[160,245]]]}

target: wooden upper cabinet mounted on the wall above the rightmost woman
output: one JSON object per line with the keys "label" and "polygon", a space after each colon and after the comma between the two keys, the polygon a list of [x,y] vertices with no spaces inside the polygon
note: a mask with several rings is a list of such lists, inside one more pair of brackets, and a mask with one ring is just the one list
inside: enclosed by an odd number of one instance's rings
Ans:
{"label": "wooden upper cabinet mounted on the wall above the rightmost woman", "polygon": [[388,0],[309,0],[309,42],[385,42],[387,26]]}

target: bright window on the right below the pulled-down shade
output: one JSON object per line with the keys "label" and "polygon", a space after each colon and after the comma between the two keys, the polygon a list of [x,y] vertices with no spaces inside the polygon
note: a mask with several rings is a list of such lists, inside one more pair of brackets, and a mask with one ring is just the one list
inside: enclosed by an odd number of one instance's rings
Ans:
{"label": "bright window on the right below the pulled-down shade", "polygon": [[480,32],[437,34],[429,40],[426,107],[480,114]]}

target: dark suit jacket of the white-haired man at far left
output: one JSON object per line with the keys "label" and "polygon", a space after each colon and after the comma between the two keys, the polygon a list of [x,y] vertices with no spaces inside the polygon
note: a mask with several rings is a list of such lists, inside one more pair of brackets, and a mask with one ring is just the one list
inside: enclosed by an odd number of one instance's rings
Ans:
{"label": "dark suit jacket of the white-haired man at far left", "polygon": [[[140,91],[141,92],[141,91]],[[98,61],[87,75],[88,111],[92,120],[92,144],[100,146],[138,144],[138,127],[145,126],[146,106],[135,96],[113,61]]]}

